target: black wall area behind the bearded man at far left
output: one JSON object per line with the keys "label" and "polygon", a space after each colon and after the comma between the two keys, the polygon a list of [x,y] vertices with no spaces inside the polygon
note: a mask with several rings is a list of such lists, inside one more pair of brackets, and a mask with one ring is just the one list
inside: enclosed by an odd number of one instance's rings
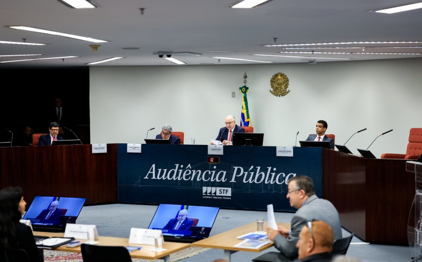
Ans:
{"label": "black wall area behind the bearded man at far left", "polygon": [[88,68],[0,69],[0,76],[3,79],[0,88],[0,141],[10,141],[11,135],[5,128],[14,132],[14,141],[22,136],[26,125],[32,127],[33,134],[48,133],[49,123],[54,121],[56,96],[64,102],[66,125],[78,136],[80,125],[90,124]]}

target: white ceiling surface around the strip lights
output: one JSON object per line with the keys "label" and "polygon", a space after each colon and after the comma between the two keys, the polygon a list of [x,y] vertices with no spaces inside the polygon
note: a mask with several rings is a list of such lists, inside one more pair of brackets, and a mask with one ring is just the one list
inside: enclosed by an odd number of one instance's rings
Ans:
{"label": "white ceiling surface around the strip lights", "polygon": [[[372,13],[377,10],[420,0],[273,0],[252,9],[232,9],[235,0],[96,0],[95,9],[72,9],[57,0],[0,1],[0,40],[51,43],[47,46],[0,44],[0,55],[42,54],[40,57],[79,56],[77,58],[0,63],[1,68],[76,67],[109,57],[124,59],[101,63],[106,65],[172,65],[152,53],[157,51],[195,52],[202,56],[173,56],[187,64],[239,64],[246,61],[221,60],[212,56],[276,63],[307,62],[305,58],[260,57],[252,54],[277,54],[283,43],[318,43],[346,41],[422,41],[422,9],[396,14]],[[145,8],[140,14],[139,8]],[[51,31],[109,40],[95,43],[4,26],[30,26]],[[356,45],[362,46],[362,45]],[[365,52],[422,53],[422,48],[370,49]],[[386,45],[383,45],[386,46]],[[388,46],[420,46],[388,45]],[[140,47],[141,50],[121,50]],[[233,51],[235,53],[210,53]],[[284,50],[286,51],[286,50]],[[362,50],[317,50],[363,52]],[[280,54],[312,57],[340,57],[354,60],[422,57],[422,55],[358,54]],[[0,57],[0,61],[35,57]],[[317,59],[318,62],[336,61]],[[338,61],[338,60],[337,60]],[[86,65],[87,66],[87,65]]]}

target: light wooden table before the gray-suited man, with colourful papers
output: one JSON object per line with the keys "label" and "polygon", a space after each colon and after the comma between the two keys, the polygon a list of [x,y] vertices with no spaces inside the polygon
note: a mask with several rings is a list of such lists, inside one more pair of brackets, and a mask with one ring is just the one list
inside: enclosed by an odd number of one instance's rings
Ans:
{"label": "light wooden table before the gray-suited man, with colourful papers", "polygon": [[[264,222],[264,229],[268,223]],[[285,228],[290,229],[290,223],[281,223],[277,222],[277,225],[283,226]],[[215,248],[215,249],[223,249],[224,250],[224,259],[229,260],[231,259],[231,254],[236,253],[237,251],[247,251],[247,252],[256,252],[259,253],[265,249],[271,248],[274,246],[274,243],[271,242],[268,245],[263,247],[252,249],[252,248],[235,248],[233,247],[236,244],[239,244],[243,241],[243,239],[237,238],[239,235],[247,234],[250,232],[256,231],[256,222],[249,223],[245,226],[241,226],[227,232],[210,236],[208,238],[202,239],[200,241],[192,243],[194,247],[202,247],[202,248]]]}

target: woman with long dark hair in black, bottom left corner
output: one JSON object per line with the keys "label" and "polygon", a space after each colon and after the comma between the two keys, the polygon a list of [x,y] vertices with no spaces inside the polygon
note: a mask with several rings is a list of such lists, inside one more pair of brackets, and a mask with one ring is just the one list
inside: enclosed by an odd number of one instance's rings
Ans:
{"label": "woman with long dark hair in black, bottom left corner", "polygon": [[20,187],[0,191],[0,250],[23,249],[32,262],[44,261],[31,228],[19,222],[26,204]]}

